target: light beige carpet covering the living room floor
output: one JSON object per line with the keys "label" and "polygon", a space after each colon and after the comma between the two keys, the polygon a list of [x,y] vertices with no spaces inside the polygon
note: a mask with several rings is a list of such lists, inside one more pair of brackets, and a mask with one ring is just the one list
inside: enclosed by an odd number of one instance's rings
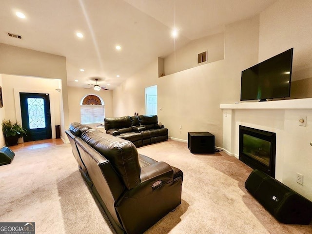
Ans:
{"label": "light beige carpet covering the living room floor", "polygon": [[[244,188],[252,169],[224,152],[191,154],[168,140],[138,148],[184,173],[182,204],[146,234],[311,234],[312,225],[285,225]],[[70,145],[16,152],[0,166],[0,222],[36,222],[36,234],[115,233],[78,172]]]}

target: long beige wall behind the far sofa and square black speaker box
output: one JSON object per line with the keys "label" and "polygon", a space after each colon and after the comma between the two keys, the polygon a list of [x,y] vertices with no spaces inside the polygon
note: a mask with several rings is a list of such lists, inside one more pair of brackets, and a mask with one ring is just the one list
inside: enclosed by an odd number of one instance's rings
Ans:
{"label": "long beige wall behind the far sofa and square black speaker box", "polygon": [[[223,51],[224,39],[225,48],[228,48],[222,60],[157,78],[158,59],[155,59],[114,90],[114,116],[133,115],[134,112],[145,114],[144,89],[157,85],[158,121],[169,129],[170,137],[187,140],[188,132],[208,131],[215,135],[215,145],[222,147],[223,119],[219,104],[239,101],[240,72],[256,63],[258,58],[258,25],[259,18],[254,17],[227,26],[222,37],[215,36],[221,40]],[[198,41],[201,45],[202,40]],[[181,55],[188,58],[191,48],[196,46],[188,47],[185,50],[188,53]]]}

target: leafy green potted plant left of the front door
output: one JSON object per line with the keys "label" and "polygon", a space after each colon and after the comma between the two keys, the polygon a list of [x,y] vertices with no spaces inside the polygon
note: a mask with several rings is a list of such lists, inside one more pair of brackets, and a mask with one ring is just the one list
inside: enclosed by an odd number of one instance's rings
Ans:
{"label": "leafy green potted plant left of the front door", "polygon": [[26,132],[22,126],[17,121],[12,122],[10,119],[2,120],[2,132],[7,146],[17,145],[19,138],[26,136]]}

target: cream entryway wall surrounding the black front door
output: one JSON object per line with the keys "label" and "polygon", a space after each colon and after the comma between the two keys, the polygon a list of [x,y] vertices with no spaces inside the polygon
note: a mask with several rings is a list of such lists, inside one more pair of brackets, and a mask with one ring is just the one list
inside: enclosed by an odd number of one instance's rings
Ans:
{"label": "cream entryway wall surrounding the black front door", "polygon": [[[6,108],[5,118],[21,123],[20,92],[48,93],[50,97],[52,138],[55,138],[55,125],[60,125],[60,79],[22,77],[2,74],[3,106]],[[21,140],[21,139],[20,139]]]}

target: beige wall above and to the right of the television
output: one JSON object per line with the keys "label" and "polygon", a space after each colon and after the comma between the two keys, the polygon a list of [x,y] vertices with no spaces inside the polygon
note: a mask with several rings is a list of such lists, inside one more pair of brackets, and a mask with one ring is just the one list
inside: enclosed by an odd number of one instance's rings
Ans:
{"label": "beige wall above and to the right of the television", "polygon": [[[312,78],[311,9],[311,0],[282,0],[260,14],[259,61],[293,47],[292,81]],[[306,82],[293,86],[291,98],[312,97]]]}

